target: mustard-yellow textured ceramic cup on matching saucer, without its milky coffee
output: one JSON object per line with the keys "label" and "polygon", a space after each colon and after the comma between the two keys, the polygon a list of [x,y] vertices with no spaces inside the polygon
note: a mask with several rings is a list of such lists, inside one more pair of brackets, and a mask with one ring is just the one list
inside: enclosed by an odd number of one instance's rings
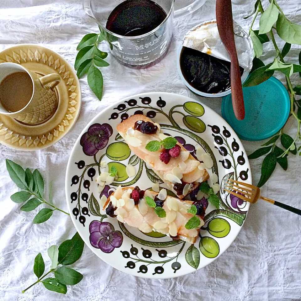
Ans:
{"label": "mustard-yellow textured ceramic cup on matching saucer, without its milky coffee", "polygon": [[0,64],[0,83],[14,72],[26,72],[32,81],[33,92],[29,102],[17,112],[7,111],[0,103],[0,114],[7,115],[18,121],[29,124],[41,124],[53,116],[58,106],[58,98],[54,91],[61,78],[56,73],[40,76],[35,72],[16,63]]}

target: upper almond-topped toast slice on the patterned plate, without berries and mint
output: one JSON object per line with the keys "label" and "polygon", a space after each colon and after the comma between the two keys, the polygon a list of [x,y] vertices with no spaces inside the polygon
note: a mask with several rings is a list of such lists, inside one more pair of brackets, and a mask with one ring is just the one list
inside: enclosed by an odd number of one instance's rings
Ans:
{"label": "upper almond-topped toast slice on the patterned plate, without berries and mint", "polygon": [[[135,122],[138,120],[152,122],[153,124],[157,125],[157,132],[155,134],[143,134],[138,130],[134,130]],[[162,137],[163,132],[160,129],[160,125],[154,123],[145,115],[133,115],[124,120],[122,123],[118,124],[116,129],[124,138],[125,142],[129,145],[129,148],[135,153],[135,155],[145,161],[149,168],[151,168],[158,175],[158,177],[161,178],[161,180],[169,187],[170,190],[172,190],[173,193],[177,195],[178,198],[184,198],[187,194],[191,193],[195,188],[197,188],[200,182],[204,182],[209,179],[209,174],[206,169],[200,170],[198,168],[199,161],[197,161],[179,142],[177,142],[177,145],[181,147],[181,153],[177,158],[171,158],[168,164],[160,161],[160,154],[163,149],[162,147],[156,152],[146,150],[145,146],[150,140],[161,141],[161,138],[164,139],[164,135]],[[135,146],[137,144],[132,143],[131,140],[133,140],[133,137],[135,138],[135,143],[138,141],[138,146]],[[165,138],[167,138],[167,136],[165,136]],[[139,140],[141,142],[140,145]],[[183,164],[181,162],[185,163],[186,168],[183,168]],[[191,185],[188,190],[185,190],[185,194],[179,195],[174,189],[175,182],[171,182],[166,179],[166,175],[168,173],[173,173],[174,167],[179,168],[180,166],[182,167],[182,178],[180,180],[182,181],[183,185]]]}

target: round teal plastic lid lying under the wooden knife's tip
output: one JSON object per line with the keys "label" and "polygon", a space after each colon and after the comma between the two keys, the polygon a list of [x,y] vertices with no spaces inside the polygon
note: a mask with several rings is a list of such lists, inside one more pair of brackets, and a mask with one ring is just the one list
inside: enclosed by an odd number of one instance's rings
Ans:
{"label": "round teal plastic lid lying under the wooden knife's tip", "polygon": [[275,77],[242,89],[246,109],[244,120],[235,118],[231,94],[223,97],[222,116],[243,140],[264,140],[276,134],[285,124],[290,112],[286,87]]}

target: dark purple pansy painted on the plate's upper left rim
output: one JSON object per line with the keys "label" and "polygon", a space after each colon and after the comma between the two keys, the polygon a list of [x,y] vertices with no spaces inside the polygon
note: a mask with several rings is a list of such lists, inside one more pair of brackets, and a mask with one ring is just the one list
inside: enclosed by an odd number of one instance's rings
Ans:
{"label": "dark purple pansy painted on the plate's upper left rim", "polygon": [[82,135],[80,144],[87,156],[94,156],[98,150],[102,150],[108,144],[109,138],[113,134],[112,127],[107,124],[92,124],[88,131]]}

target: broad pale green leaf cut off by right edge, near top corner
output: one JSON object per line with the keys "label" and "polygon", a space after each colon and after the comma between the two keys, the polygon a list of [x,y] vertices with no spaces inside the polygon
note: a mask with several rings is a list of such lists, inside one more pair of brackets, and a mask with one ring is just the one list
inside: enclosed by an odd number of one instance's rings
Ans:
{"label": "broad pale green leaf cut off by right edge, near top corner", "polygon": [[301,45],[301,26],[290,22],[283,13],[279,14],[276,30],[282,40],[290,44]]}

